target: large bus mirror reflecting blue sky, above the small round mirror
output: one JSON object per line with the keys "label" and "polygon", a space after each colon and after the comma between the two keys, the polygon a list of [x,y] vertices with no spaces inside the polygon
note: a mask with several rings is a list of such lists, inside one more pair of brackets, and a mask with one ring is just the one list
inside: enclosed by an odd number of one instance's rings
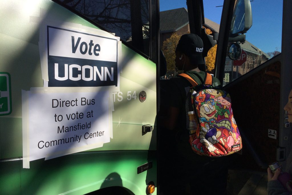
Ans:
{"label": "large bus mirror reflecting blue sky, above the small round mirror", "polygon": [[246,33],[252,24],[250,0],[238,0],[232,16],[230,34]]}

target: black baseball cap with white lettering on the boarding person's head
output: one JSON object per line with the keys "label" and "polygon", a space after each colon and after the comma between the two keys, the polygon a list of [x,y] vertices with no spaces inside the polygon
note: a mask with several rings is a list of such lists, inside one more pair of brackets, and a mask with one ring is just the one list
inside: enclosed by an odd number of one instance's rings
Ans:
{"label": "black baseball cap with white lettering on the boarding person's head", "polygon": [[192,63],[205,64],[203,47],[203,41],[197,34],[184,34],[180,37],[176,50],[190,57]]}

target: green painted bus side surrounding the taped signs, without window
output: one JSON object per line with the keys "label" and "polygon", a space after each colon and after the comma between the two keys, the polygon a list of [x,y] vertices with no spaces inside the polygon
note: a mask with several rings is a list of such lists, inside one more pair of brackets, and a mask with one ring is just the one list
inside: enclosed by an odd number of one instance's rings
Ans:
{"label": "green painted bus side surrounding the taped signs, without window", "polygon": [[[11,75],[12,113],[0,116],[0,191],[6,194],[86,194],[123,186],[145,194],[156,184],[156,64],[122,45],[120,87],[113,96],[113,138],[102,147],[22,168],[21,90],[43,87],[39,52],[40,25],[61,21],[96,28],[50,0],[4,1],[0,7],[0,72]],[[144,102],[140,92],[146,92]],[[153,131],[142,133],[142,125]],[[137,167],[153,167],[137,174]],[[9,185],[8,185],[9,183]],[[4,193],[4,194],[5,194]],[[156,194],[156,192],[154,192]]]}

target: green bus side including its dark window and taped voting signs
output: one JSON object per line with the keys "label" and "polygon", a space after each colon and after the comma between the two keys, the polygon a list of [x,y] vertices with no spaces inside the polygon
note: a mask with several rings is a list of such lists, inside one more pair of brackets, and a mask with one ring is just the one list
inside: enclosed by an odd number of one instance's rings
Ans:
{"label": "green bus side including its dark window and taped voting signs", "polygon": [[150,3],[1,1],[0,194],[155,189]]}

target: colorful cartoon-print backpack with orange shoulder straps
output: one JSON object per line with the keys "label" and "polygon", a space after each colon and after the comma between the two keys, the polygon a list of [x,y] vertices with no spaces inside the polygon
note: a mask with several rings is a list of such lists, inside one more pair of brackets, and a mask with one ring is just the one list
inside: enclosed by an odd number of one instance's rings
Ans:
{"label": "colorful cartoon-print backpack with orange shoulder straps", "polygon": [[241,136],[233,118],[230,95],[214,88],[212,75],[208,73],[204,84],[197,84],[185,73],[180,76],[192,84],[186,102],[189,102],[189,142],[193,151],[218,157],[241,150]]}

